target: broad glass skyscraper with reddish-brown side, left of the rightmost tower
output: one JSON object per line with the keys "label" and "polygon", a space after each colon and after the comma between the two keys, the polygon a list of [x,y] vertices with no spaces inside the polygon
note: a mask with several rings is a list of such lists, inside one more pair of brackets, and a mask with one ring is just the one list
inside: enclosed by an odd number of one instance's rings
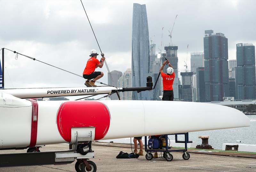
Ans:
{"label": "broad glass skyscraper with reddish-brown side, left of the rightmost tower", "polygon": [[223,101],[229,96],[228,39],[213,30],[204,34],[204,81],[206,102]]}

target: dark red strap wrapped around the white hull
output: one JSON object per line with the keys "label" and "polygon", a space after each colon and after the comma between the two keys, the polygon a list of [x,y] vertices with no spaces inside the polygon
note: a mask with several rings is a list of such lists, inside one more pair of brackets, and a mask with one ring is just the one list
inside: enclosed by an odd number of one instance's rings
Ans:
{"label": "dark red strap wrapped around the white hull", "polygon": [[32,103],[32,118],[31,118],[31,137],[30,137],[30,144],[28,147],[35,147],[36,146],[36,139],[37,139],[37,119],[38,119],[38,104],[36,100],[27,99]]}

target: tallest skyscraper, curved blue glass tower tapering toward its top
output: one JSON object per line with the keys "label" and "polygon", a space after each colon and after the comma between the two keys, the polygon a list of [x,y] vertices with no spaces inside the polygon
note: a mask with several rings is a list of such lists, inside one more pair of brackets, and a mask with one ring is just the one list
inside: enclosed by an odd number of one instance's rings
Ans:
{"label": "tallest skyscraper, curved blue glass tower tapering toward its top", "polygon": [[[133,4],[132,14],[132,87],[145,87],[149,75],[149,36],[146,5]],[[133,100],[151,100],[149,91],[132,92]]]}

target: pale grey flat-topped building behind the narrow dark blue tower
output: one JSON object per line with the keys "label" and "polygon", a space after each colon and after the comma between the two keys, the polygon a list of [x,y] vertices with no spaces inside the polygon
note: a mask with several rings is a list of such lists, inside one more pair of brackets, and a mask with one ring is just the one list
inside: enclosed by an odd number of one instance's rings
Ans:
{"label": "pale grey flat-topped building behind the narrow dark blue tower", "polygon": [[196,73],[196,68],[204,67],[204,52],[190,53],[191,72]]}

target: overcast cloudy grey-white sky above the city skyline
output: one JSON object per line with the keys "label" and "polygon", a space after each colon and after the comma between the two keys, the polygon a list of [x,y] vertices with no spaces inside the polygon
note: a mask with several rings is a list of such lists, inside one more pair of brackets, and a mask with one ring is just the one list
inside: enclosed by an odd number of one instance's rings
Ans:
{"label": "overcast cloudy grey-white sky above the city skyline", "polygon": [[[224,33],[229,59],[237,43],[256,44],[256,1],[83,1],[110,71],[131,68],[132,7],[146,4],[149,37],[179,47],[179,69],[188,53],[203,51],[204,30]],[[0,47],[82,75],[91,49],[99,48],[82,4],[73,1],[0,0]],[[2,53],[1,57],[2,57]],[[2,58],[1,58],[2,60]],[[84,79],[5,50],[5,88],[80,87]],[[190,56],[188,57],[190,69]],[[107,68],[101,82],[107,83]]]}

